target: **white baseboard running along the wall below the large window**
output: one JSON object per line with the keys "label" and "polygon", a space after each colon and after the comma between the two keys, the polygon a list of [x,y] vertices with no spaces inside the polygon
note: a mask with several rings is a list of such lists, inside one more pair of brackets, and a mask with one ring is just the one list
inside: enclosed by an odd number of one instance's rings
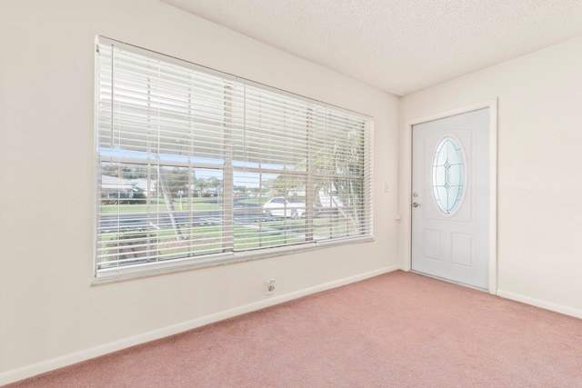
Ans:
{"label": "white baseboard running along the wall below the large window", "polygon": [[147,343],[150,341],[155,341],[160,338],[167,337],[169,335],[174,335],[177,333],[183,333],[188,330],[196,329],[196,327],[204,326],[205,324],[215,323],[218,321],[231,318],[236,315],[241,315],[243,313],[250,313],[256,310],[261,310],[266,307],[276,305],[278,303],[284,303],[297,299],[311,293],[318,293],[321,291],[330,290],[342,285],[355,283],[370,277],[377,276],[379,274],[386,274],[389,272],[396,271],[398,266],[391,266],[382,268],[379,270],[371,271],[365,274],[357,274],[354,276],[346,277],[344,279],[339,279],[326,284],[317,284],[316,286],[309,287],[303,290],[298,290],[293,293],[286,293],[283,295],[276,295],[273,297],[266,298],[262,301],[255,303],[248,303],[242,306],[237,306],[235,308],[225,310],[219,313],[213,313],[203,317],[193,319],[191,321],[186,321],[183,323],[176,323],[170,326],[162,327],[148,333],[137,334],[128,338],[124,338],[119,341],[112,343],[104,343],[99,346],[95,346],[90,349],[85,349],[75,353],[68,353],[59,357],[55,357],[49,360],[42,361],[40,363],[33,363],[30,365],[25,365],[20,368],[9,370],[0,373],[0,385],[7,383],[15,383],[19,380],[23,380],[28,377],[35,376],[36,374],[45,373],[53,371],[58,368],[65,367],[67,365],[72,365],[74,363],[80,363],[107,353],[113,353],[122,349],[126,349],[131,346],[135,346],[141,343]]}

